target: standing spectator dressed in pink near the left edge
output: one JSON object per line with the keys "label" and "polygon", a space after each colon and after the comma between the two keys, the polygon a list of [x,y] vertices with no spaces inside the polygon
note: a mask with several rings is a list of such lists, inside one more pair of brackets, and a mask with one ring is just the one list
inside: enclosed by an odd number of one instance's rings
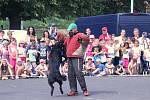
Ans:
{"label": "standing spectator dressed in pink near the left edge", "polygon": [[12,65],[12,67],[13,67],[13,72],[15,74],[16,59],[17,59],[17,55],[18,55],[16,39],[12,40],[12,42],[8,46],[8,51],[9,51],[9,61],[10,61],[10,64]]}

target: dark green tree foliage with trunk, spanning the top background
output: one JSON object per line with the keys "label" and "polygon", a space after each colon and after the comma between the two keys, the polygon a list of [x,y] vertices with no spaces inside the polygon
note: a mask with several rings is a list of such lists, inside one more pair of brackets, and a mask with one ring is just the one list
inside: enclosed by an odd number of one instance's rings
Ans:
{"label": "dark green tree foliage with trunk, spanning the top background", "polygon": [[[145,12],[144,1],[134,0],[134,9]],[[9,18],[10,29],[20,29],[21,20],[44,21],[47,16],[69,19],[128,12],[130,0],[0,0],[0,18]]]}

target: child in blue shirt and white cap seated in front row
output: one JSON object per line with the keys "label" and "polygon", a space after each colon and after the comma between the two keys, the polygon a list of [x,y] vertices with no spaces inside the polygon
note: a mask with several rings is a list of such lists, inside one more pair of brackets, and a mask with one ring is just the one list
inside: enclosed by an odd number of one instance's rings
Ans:
{"label": "child in blue shirt and white cap seated in front row", "polygon": [[93,75],[98,74],[98,75],[104,75],[105,72],[105,66],[104,64],[101,64],[101,59],[96,59],[96,69],[92,72]]}

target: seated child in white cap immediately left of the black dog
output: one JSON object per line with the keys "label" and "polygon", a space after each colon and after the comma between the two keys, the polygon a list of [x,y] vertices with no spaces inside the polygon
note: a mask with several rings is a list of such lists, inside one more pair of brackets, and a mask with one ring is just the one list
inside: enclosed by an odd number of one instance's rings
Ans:
{"label": "seated child in white cap immediately left of the black dog", "polygon": [[40,77],[47,77],[48,67],[44,59],[40,59],[40,64],[35,68],[37,75]]}

